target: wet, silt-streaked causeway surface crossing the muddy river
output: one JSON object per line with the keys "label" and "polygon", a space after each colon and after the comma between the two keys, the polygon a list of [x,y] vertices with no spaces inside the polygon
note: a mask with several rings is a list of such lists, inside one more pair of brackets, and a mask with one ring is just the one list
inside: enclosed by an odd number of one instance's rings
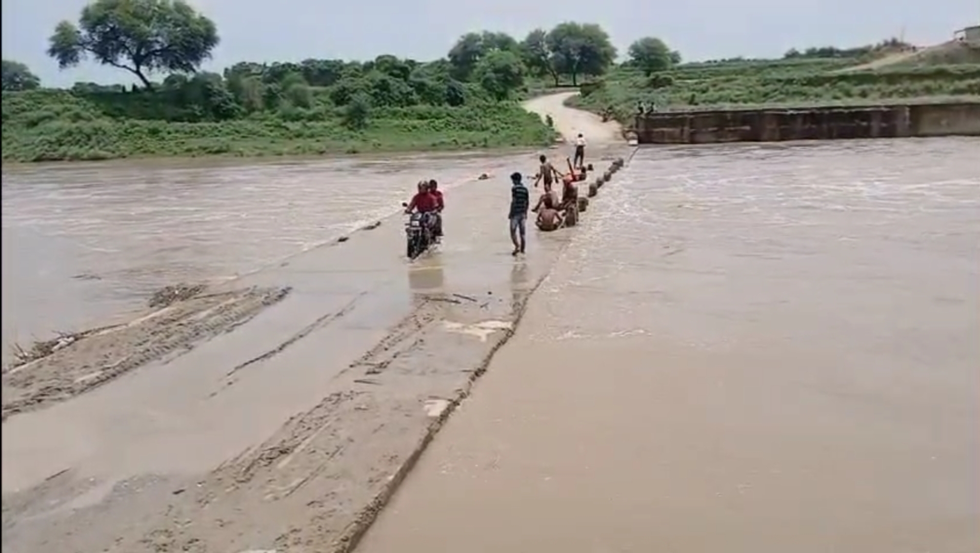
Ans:
{"label": "wet, silt-streaked causeway surface crossing the muddy river", "polygon": [[[172,320],[144,318],[142,326],[103,337],[110,352],[141,352],[134,370],[107,371],[126,359],[88,347],[94,352],[83,352],[94,372],[75,371],[53,390],[41,386],[50,400],[4,422],[4,548],[343,547],[359,531],[358,521],[372,516],[376,495],[400,478],[428,429],[510,336],[527,295],[571,236],[539,240],[532,233],[529,253],[510,255],[506,175],[526,158],[498,158],[489,167],[485,160],[459,162],[456,182],[443,180],[449,184],[446,243],[414,263],[402,258],[400,216],[345,233],[343,242],[323,239],[326,244],[305,253],[267,245],[265,267],[229,264],[248,274],[223,284],[213,279],[208,302],[178,303],[164,310]],[[488,169],[495,178],[472,179]],[[261,176],[270,169],[253,170]],[[388,185],[380,195],[365,193],[386,204],[400,201],[402,185],[417,177],[396,176],[397,190]],[[288,193],[287,184],[277,185],[280,193]],[[324,198],[344,201],[343,195]],[[295,203],[306,202],[300,194]],[[221,201],[215,204],[221,211]],[[323,224],[343,231],[371,218],[356,209],[323,211],[336,218]],[[110,231],[90,236],[99,232]],[[237,232],[261,238],[262,231],[243,223]],[[233,235],[222,240],[204,247],[248,243]],[[139,267],[146,280],[133,285],[132,296],[167,278],[157,269],[167,266]],[[112,270],[103,274],[122,280]],[[93,282],[105,281],[113,282]],[[249,294],[263,308],[238,308]],[[230,305],[230,314],[221,305]],[[172,337],[174,328],[186,336],[159,340]],[[71,357],[63,361],[70,364]],[[15,376],[37,381],[37,374],[28,369]],[[5,406],[12,378],[5,375]],[[99,386],[88,387],[92,379]]]}

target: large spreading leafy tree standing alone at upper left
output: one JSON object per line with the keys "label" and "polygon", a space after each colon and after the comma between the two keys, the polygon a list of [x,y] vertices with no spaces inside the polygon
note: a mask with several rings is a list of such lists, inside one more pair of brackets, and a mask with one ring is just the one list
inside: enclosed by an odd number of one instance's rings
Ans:
{"label": "large spreading leafy tree standing alone at upper left", "polygon": [[62,69],[91,56],[152,88],[148,73],[195,71],[218,41],[215,23],[183,0],[95,0],[81,10],[77,25],[58,23],[48,55]]}

